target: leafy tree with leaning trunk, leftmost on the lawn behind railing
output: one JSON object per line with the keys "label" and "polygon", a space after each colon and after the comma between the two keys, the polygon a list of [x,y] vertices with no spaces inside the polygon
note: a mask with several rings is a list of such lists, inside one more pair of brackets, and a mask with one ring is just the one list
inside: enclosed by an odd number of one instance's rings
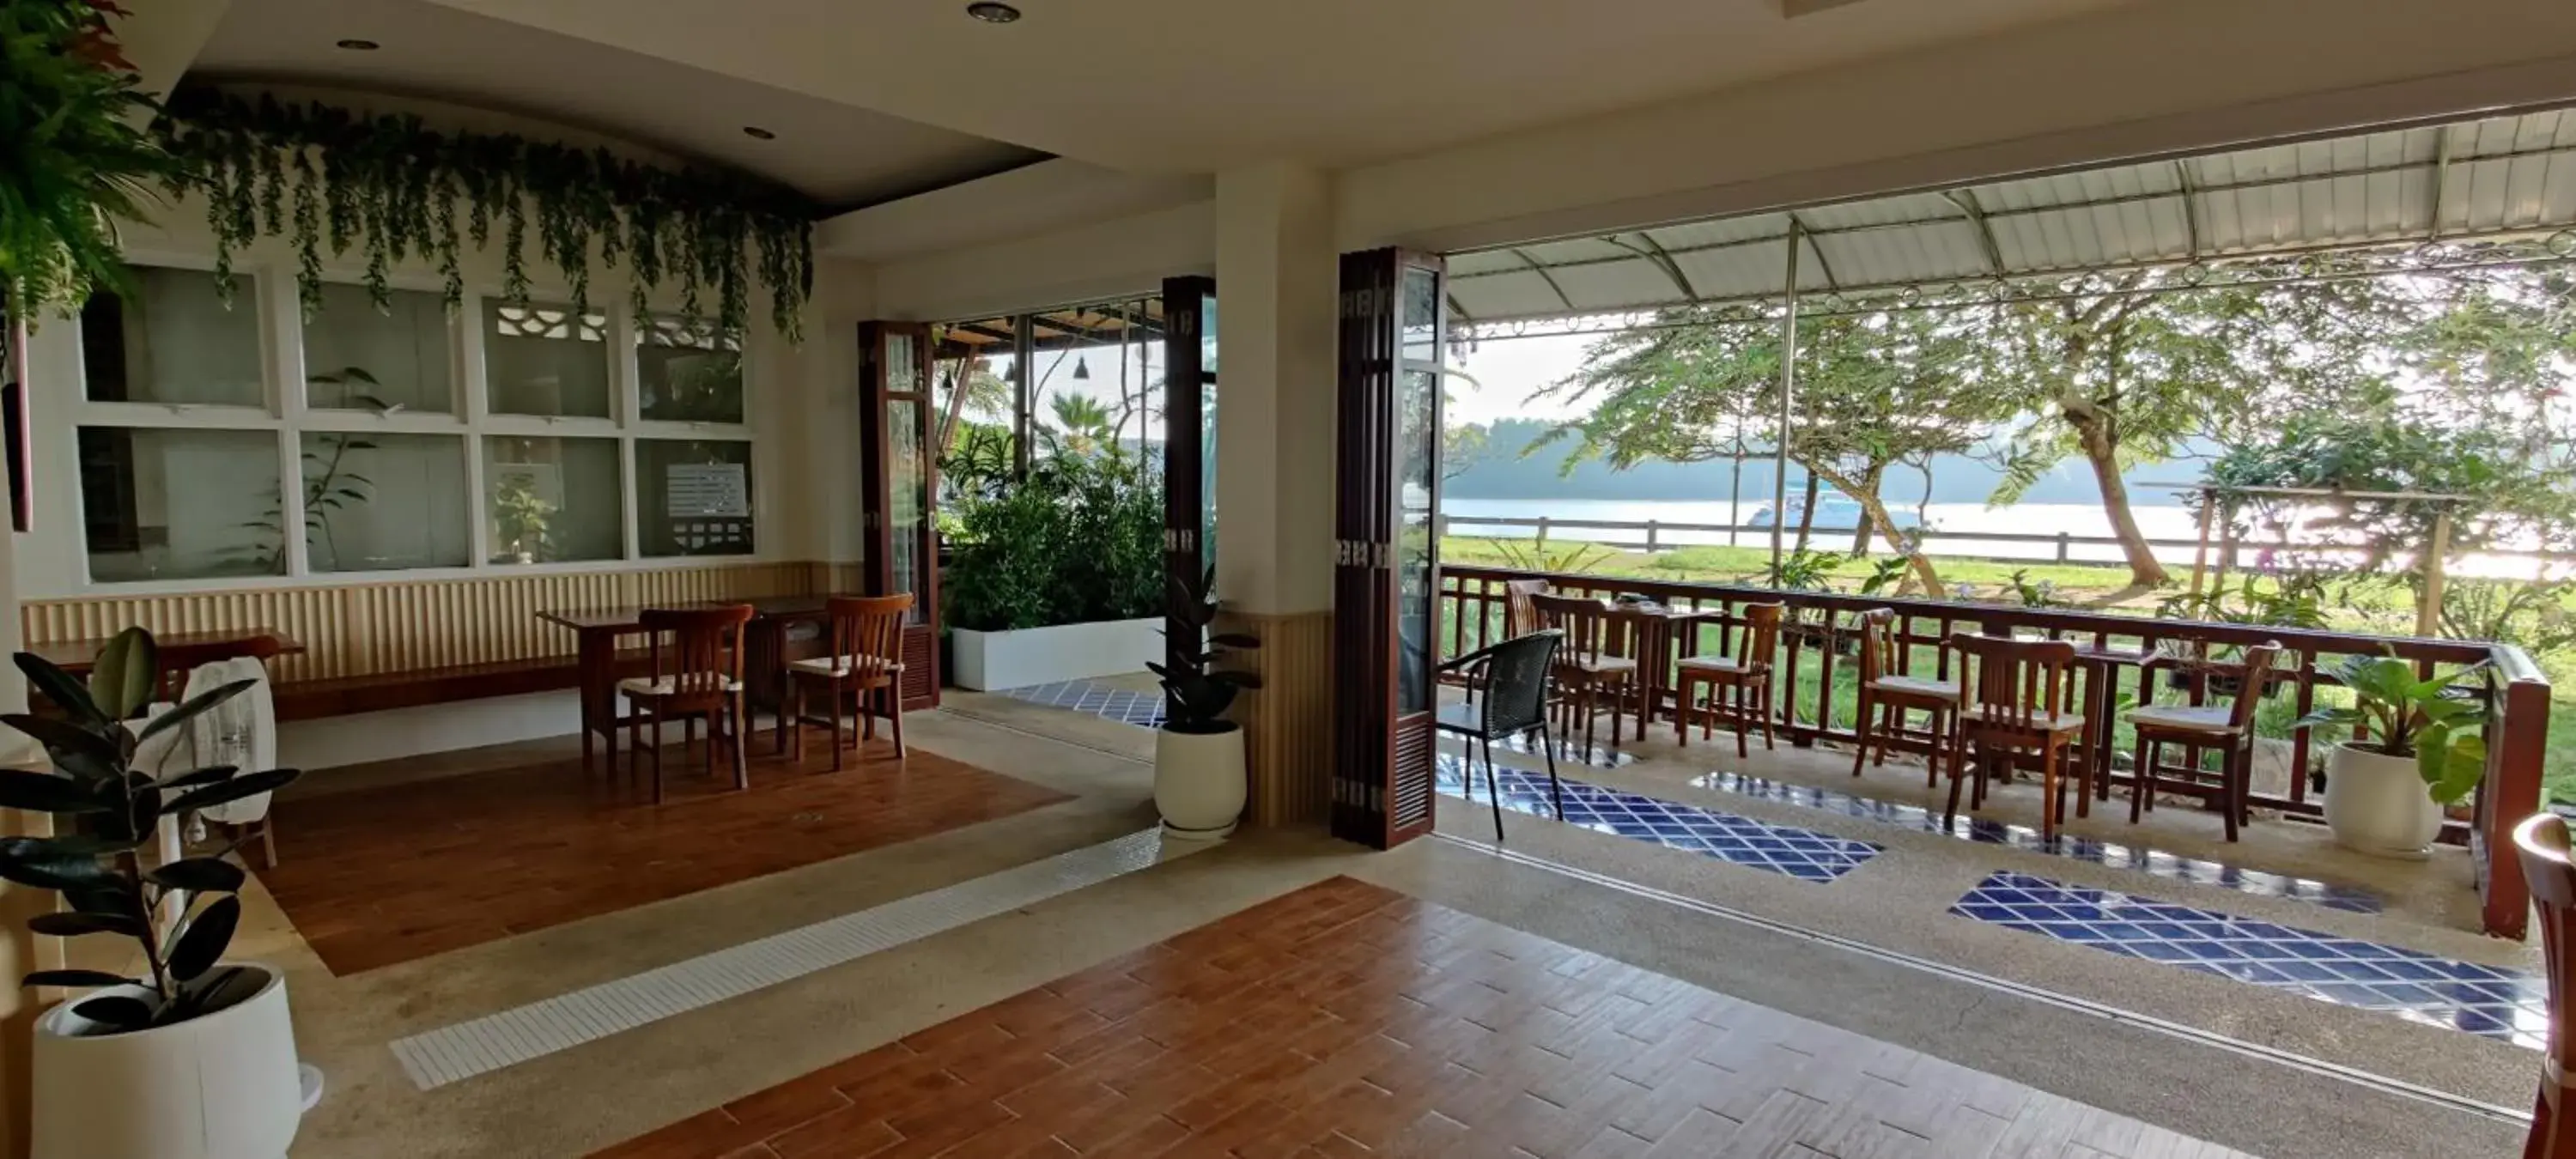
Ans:
{"label": "leafy tree with leaning trunk, leftmost on the lawn behind railing", "polygon": [[[1940,590],[1919,543],[1896,536],[1880,495],[1888,469],[1968,451],[2009,417],[1973,389],[1968,330],[1937,312],[1899,309],[1801,319],[1795,420],[1785,456],[1811,479],[1860,502],[1868,525],[1911,556],[1914,580]],[[1584,366],[1540,394],[1592,410],[1530,451],[1571,440],[1566,469],[1605,458],[1710,461],[1772,440],[1780,399],[1780,325],[1754,309],[1672,309],[1646,327],[1592,343]]]}

